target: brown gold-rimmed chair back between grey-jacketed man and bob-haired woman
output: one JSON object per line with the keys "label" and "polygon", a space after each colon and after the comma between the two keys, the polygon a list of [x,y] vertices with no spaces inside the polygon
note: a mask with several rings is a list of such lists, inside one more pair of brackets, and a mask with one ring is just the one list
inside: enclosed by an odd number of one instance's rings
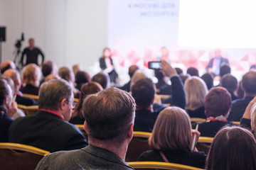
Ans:
{"label": "brown gold-rimmed chair back between grey-jacketed man and bob-haired woman", "polygon": [[150,149],[149,136],[151,132],[136,132],[134,131],[131,142],[128,145],[126,162],[137,161],[140,154]]}

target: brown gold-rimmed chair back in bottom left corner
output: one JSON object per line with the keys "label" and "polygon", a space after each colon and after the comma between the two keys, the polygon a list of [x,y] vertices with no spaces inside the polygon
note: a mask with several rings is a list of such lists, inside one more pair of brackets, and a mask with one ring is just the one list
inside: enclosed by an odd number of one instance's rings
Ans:
{"label": "brown gold-rimmed chair back in bottom left corner", "polygon": [[0,169],[32,170],[50,152],[16,143],[0,143]]}

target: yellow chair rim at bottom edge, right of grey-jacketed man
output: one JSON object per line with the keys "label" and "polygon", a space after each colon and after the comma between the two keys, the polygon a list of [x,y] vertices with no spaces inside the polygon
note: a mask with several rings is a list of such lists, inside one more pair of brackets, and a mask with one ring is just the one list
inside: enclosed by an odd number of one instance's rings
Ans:
{"label": "yellow chair rim at bottom edge, right of grey-jacketed man", "polygon": [[166,162],[127,162],[134,169],[203,170],[193,166]]}

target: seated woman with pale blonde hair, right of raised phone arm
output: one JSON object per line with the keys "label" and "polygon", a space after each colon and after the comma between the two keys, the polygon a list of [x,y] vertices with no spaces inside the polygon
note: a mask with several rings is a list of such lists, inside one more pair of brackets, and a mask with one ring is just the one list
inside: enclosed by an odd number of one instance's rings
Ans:
{"label": "seated woman with pale blonde hair, right of raised phone arm", "polygon": [[190,77],[184,84],[186,111],[191,118],[206,118],[204,99],[208,93],[206,83],[199,77]]}

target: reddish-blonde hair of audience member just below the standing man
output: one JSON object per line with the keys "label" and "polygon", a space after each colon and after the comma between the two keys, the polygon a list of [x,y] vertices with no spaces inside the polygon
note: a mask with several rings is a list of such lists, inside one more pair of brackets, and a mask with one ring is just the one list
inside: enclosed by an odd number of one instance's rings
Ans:
{"label": "reddish-blonde hair of audience member just below the standing man", "polygon": [[22,70],[22,83],[39,86],[41,79],[41,69],[36,64],[27,64]]}

